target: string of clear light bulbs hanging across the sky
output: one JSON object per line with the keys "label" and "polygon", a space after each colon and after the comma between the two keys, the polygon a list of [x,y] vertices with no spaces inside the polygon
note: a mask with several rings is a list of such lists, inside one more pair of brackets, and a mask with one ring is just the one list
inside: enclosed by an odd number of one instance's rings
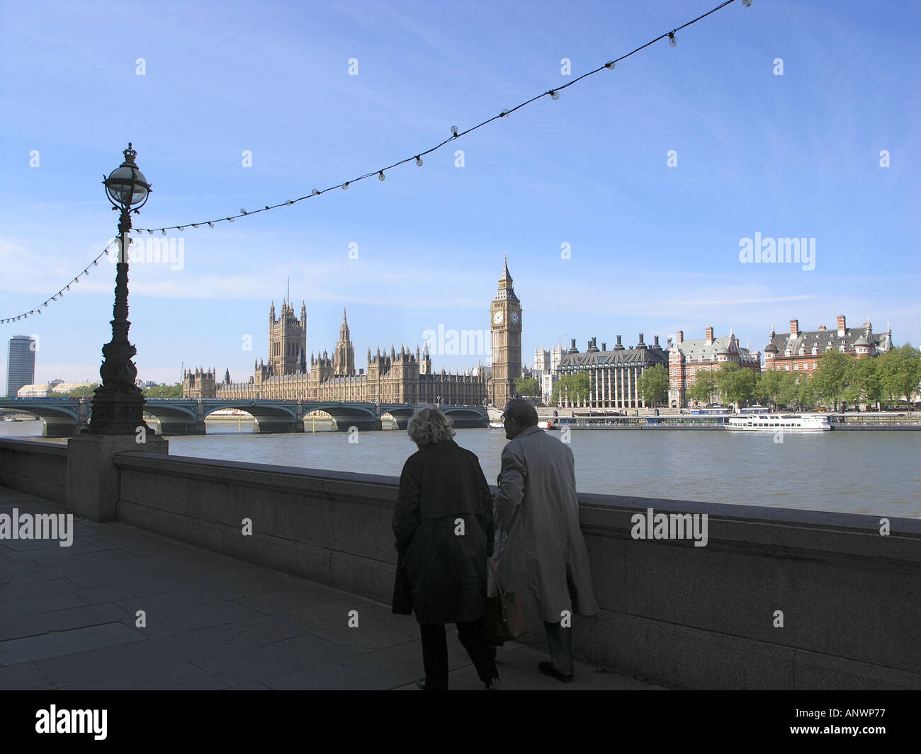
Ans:
{"label": "string of clear light bulbs hanging across the sky", "polygon": [[[520,110],[521,108],[530,105],[532,102],[535,102],[538,99],[542,99],[543,97],[550,97],[551,99],[560,99],[560,92],[563,91],[565,88],[572,87],[573,85],[579,83],[583,79],[586,79],[591,75],[598,74],[601,71],[612,71],[616,64],[620,63],[623,60],[626,60],[631,55],[635,55],[637,52],[645,50],[647,47],[650,47],[651,45],[655,44],[658,41],[668,39],[671,47],[677,46],[678,39],[677,37],[675,37],[675,35],[679,31],[681,31],[682,29],[687,29],[690,26],[693,26],[698,21],[703,20],[705,17],[708,17],[716,13],[717,10],[721,10],[722,8],[729,6],[734,2],[735,0],[725,0],[725,2],[720,3],[718,6],[714,8],[711,8],[710,10],[708,10],[706,13],[702,14],[701,16],[698,16],[690,21],[687,21],[686,23],[683,23],[681,26],[675,27],[674,29],[671,29],[670,31],[666,31],[663,34],[660,34],[658,37],[656,37],[656,39],[647,41],[646,44],[640,45],[635,50],[632,50],[631,52],[627,52],[626,54],[621,55],[619,58],[614,58],[612,60],[609,60],[607,63],[600,65],[598,68],[595,68],[593,71],[589,71],[588,73],[577,76],[577,78],[574,78],[572,81],[567,81],[565,84],[562,84],[559,87],[548,89],[547,91],[542,92],[541,94],[535,95],[534,97],[530,99],[526,99],[524,102],[521,102],[519,105],[516,105],[514,108],[502,110],[497,115],[494,115],[491,118],[487,118],[485,121],[477,123],[476,125],[471,126],[470,128],[464,131],[459,131],[457,126],[451,126],[451,129],[450,129],[451,135],[444,141],[426,150],[417,152],[411,157],[404,157],[403,159],[398,160],[397,162],[394,162],[392,165],[388,165],[384,168],[378,168],[377,170],[370,170],[369,172],[364,173],[358,176],[357,178],[353,178],[351,180],[344,180],[342,183],[337,183],[336,185],[331,186],[328,189],[322,189],[322,190],[312,189],[308,194],[297,197],[297,199],[288,199],[285,202],[279,202],[276,204],[266,204],[261,209],[252,210],[252,211],[247,211],[246,209],[241,208],[238,215],[227,215],[226,217],[215,217],[211,220],[203,220],[198,223],[186,223],[185,225],[181,225],[181,226],[162,226],[162,227],[152,227],[152,228],[151,227],[136,227],[134,228],[134,232],[137,233],[138,235],[141,235],[143,233],[147,233],[148,235],[153,235],[154,233],[160,233],[161,235],[166,236],[168,230],[184,231],[187,227],[192,227],[192,228],[197,229],[200,226],[214,227],[216,226],[217,223],[232,223],[234,222],[234,220],[239,219],[239,217],[249,217],[250,215],[259,215],[260,213],[278,209],[279,207],[289,207],[293,204],[297,204],[298,202],[303,202],[315,196],[321,196],[327,191],[332,191],[333,189],[345,190],[345,189],[348,189],[348,187],[351,186],[353,183],[357,183],[359,180],[366,180],[368,178],[372,178],[373,176],[377,176],[378,180],[385,180],[386,179],[385,173],[388,170],[391,170],[393,168],[399,168],[400,166],[405,165],[406,163],[409,163],[409,162],[415,162],[415,164],[421,168],[423,166],[422,158],[428,155],[431,155],[434,152],[437,152],[437,150],[441,149],[441,147],[460,139],[462,136],[466,136],[468,133],[472,133],[480,128],[483,128],[485,125],[488,125],[491,122],[498,121],[501,118],[505,118],[508,115],[511,115],[511,113],[515,112],[515,110]],[[741,0],[741,2],[742,2],[742,5],[745,7],[752,6],[752,0]],[[87,265],[87,269],[85,269],[82,273],[79,273],[78,275],[76,275],[76,277],[70,283],[66,284],[64,288],[62,288],[60,291],[57,292],[56,295],[51,296],[50,298],[42,302],[42,304],[39,307],[35,307],[29,312],[23,312],[17,317],[0,319],[0,323],[6,324],[7,322],[15,322],[15,321],[18,321],[19,319],[26,319],[29,317],[29,315],[41,314],[42,307],[47,307],[50,302],[56,301],[58,298],[64,296],[64,293],[70,290],[70,286],[72,284],[79,283],[79,278],[81,275],[88,275],[89,268],[91,266],[97,265],[99,259],[108,253],[109,253],[109,248],[106,247],[106,249],[104,249],[102,253],[100,253],[99,256],[92,261],[91,265]]]}

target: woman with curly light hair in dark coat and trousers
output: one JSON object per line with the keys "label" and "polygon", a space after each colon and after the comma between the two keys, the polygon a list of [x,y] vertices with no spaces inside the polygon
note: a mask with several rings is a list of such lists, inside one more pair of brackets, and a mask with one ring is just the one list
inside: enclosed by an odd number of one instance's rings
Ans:
{"label": "woman with curly light hair in dark coat and trousers", "polygon": [[[445,624],[458,637],[489,689],[498,679],[484,626],[486,559],[493,553],[493,496],[479,459],[454,442],[450,420],[423,404],[407,426],[419,450],[407,458],[393,514],[400,553],[398,583],[408,580],[422,632],[426,690],[448,688]],[[394,594],[399,588],[394,590]],[[408,612],[406,606],[394,611]]]}

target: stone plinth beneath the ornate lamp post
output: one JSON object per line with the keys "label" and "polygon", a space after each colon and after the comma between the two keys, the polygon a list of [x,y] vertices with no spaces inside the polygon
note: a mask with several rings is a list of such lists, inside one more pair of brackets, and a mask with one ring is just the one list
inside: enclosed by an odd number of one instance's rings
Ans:
{"label": "stone plinth beneath the ornate lamp post", "polygon": [[121,472],[115,465],[119,453],[169,454],[169,442],[147,435],[76,435],[67,443],[67,493],[65,507],[92,521],[114,521],[118,512]]}

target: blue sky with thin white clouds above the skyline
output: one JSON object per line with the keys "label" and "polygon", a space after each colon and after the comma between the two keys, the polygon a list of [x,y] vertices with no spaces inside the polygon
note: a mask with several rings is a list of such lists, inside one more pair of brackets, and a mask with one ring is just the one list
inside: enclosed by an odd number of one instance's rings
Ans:
{"label": "blue sky with thin white clouds above the skyline", "polygon": [[[128,141],[153,185],[135,226],[237,214],[412,156],[716,4],[2,0],[0,318],[55,294],[114,234],[99,181]],[[708,325],[760,350],[772,323],[839,314],[917,344],[919,8],[736,2],[422,168],[173,231],[181,264],[131,266],[139,377],[173,382],[184,362],[247,379],[288,277],[308,350],[332,352],[348,307],[358,366],[438,325],[488,331],[505,252],[529,363],[560,339]],[[814,269],[740,262],[756,233],[815,238]],[[39,336],[39,381],[97,378],[113,284],[100,261],[41,317],[0,326],[3,341]]]}

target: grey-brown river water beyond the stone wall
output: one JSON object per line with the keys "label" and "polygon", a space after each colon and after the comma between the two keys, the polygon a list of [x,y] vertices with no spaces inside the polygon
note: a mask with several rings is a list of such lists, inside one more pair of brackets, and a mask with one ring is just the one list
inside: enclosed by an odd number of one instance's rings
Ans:
{"label": "grey-brown river water beyond the stone wall", "polygon": [[[41,433],[41,423],[3,423],[0,436]],[[309,425],[308,425],[309,427]],[[170,436],[173,456],[399,476],[415,451],[405,431],[253,435],[251,423],[208,423],[208,435]],[[559,436],[559,433],[552,433]],[[694,431],[570,434],[580,492],[736,505],[921,516],[921,433],[812,435]],[[461,429],[455,440],[480,458],[495,484],[507,440],[501,430]]]}

